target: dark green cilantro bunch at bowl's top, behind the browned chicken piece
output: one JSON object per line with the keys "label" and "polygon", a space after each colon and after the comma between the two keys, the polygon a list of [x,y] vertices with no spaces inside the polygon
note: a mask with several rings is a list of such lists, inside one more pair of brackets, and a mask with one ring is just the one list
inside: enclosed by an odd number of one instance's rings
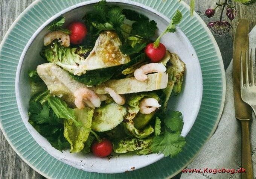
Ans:
{"label": "dark green cilantro bunch at bowl's top, behind the browned chicken piece", "polygon": [[[155,35],[157,23],[154,20],[149,21],[148,17],[136,11],[108,6],[105,0],[99,1],[93,7],[94,11],[84,17],[88,35],[90,39],[94,37],[93,41],[90,41],[92,44],[103,30],[115,30],[120,40],[127,42],[133,48],[138,43],[149,42],[149,38]],[[125,24],[125,18],[133,21],[131,26]]]}

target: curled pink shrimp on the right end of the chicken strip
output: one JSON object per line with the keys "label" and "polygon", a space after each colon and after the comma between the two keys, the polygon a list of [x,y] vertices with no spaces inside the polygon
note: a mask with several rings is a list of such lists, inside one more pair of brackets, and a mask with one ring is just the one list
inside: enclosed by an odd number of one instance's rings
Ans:
{"label": "curled pink shrimp on the right end of the chicken strip", "polygon": [[144,81],[148,79],[148,76],[146,74],[148,73],[163,73],[166,71],[166,67],[163,64],[159,63],[151,63],[141,66],[140,68],[136,69],[134,71],[134,77],[139,81]]}

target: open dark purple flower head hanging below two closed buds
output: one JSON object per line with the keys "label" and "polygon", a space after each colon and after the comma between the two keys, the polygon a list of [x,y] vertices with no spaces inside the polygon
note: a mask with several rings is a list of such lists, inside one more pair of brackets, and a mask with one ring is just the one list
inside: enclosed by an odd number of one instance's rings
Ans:
{"label": "open dark purple flower head hanging below two closed buds", "polygon": [[216,35],[226,35],[230,32],[232,26],[227,21],[212,21],[207,25],[210,30]]}

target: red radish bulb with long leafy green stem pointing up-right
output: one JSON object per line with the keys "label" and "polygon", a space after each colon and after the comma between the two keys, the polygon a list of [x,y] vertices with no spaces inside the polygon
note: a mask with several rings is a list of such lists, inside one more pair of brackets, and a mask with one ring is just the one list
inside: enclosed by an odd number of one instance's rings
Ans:
{"label": "red radish bulb with long leafy green stem pointing up-right", "polygon": [[166,53],[166,48],[162,43],[158,47],[154,47],[154,43],[150,43],[145,48],[146,55],[151,59],[151,62],[159,62]]}

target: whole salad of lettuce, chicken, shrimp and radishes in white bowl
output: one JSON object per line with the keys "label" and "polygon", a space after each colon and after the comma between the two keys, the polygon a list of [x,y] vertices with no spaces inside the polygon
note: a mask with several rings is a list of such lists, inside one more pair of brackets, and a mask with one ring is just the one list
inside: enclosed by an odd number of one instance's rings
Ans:
{"label": "whole salad of lettuce, chicken, shrimp and radishes in white bowl", "polygon": [[175,156],[186,144],[182,114],[167,108],[181,92],[185,64],[160,39],[175,32],[177,11],[155,38],[157,23],[102,0],[84,21],[53,21],[29,71],[29,123],[55,149]]}

